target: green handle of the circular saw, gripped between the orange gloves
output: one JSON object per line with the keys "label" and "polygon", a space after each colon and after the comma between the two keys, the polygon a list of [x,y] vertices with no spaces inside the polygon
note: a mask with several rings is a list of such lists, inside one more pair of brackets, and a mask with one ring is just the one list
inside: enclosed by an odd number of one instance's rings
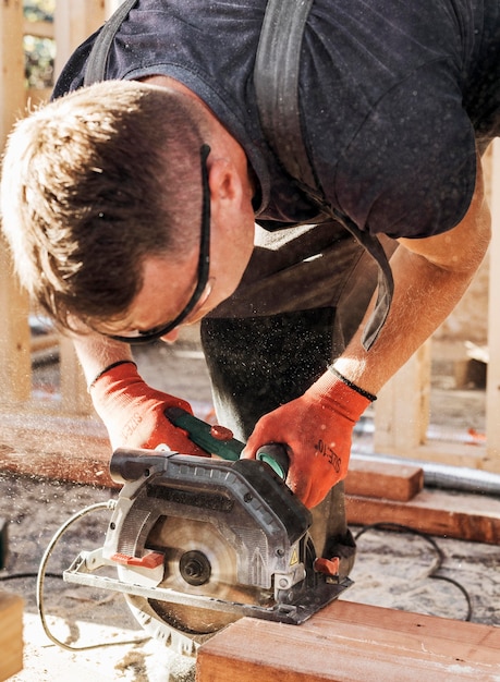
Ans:
{"label": "green handle of the circular saw, gripped between the orange gloves", "polygon": [[[168,407],[164,415],[174,426],[183,428],[188,438],[206,452],[231,462],[240,459],[245,443],[233,438],[229,428],[207,424],[182,407]],[[263,446],[257,451],[257,460],[268,464],[282,480],[286,478],[290,460],[283,443]]]}

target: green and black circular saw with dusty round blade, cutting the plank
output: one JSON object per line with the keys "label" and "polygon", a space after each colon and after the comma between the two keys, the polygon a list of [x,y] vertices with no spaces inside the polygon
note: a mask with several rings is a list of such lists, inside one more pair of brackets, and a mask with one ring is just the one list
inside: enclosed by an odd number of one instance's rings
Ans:
{"label": "green and black circular saw with dusty round blade, cutting the plank", "polygon": [[176,417],[217,456],[117,450],[123,487],[105,544],[82,551],[66,582],[122,593],[148,634],[184,654],[245,616],[297,625],[352,584],[316,557],[276,449],[241,460],[243,443]]}

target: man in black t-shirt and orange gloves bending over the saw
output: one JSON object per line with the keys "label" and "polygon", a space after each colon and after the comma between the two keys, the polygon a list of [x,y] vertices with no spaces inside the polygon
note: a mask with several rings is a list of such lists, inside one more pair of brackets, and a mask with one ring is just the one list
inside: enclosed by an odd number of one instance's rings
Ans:
{"label": "man in black t-shirt and orange gloves bending over the saw", "polygon": [[[188,405],[144,383],[129,342],[173,341],[204,318],[219,421],[247,440],[244,456],[284,443],[288,484],[315,508],[346,474],[355,422],[486,252],[480,154],[499,126],[500,3],[313,3],[295,51],[320,220],[263,132],[265,9],[141,0],[106,82],[83,88],[92,36],[56,101],[11,137],[3,230],[25,287],[75,334],[113,447],[199,453],[163,415]],[[369,343],[377,267],[344,226],[393,253],[391,308]],[[337,500],[321,513],[349,544]]]}

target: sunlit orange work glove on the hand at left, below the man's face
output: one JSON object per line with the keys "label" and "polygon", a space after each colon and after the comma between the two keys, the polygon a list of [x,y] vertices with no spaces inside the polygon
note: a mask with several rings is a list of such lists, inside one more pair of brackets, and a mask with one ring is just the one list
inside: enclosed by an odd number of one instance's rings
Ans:
{"label": "sunlit orange work glove on the hand at left, below the man's face", "polygon": [[182,454],[209,456],[194,444],[182,428],[164,416],[167,407],[182,407],[191,414],[190,403],[150,388],[143,381],[135,363],[111,365],[90,385],[97,414],[108,429],[114,449],[147,448],[164,443]]}

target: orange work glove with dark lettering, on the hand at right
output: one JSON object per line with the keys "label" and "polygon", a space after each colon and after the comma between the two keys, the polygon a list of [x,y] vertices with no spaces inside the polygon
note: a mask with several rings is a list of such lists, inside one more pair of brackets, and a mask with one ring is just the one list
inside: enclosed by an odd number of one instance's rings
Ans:
{"label": "orange work glove with dark lettering, on the hand at right", "polygon": [[316,507],[345,478],[354,425],[373,400],[330,368],[303,395],[257,422],[243,456],[254,459],[266,443],[284,443],[286,485],[306,507]]}

